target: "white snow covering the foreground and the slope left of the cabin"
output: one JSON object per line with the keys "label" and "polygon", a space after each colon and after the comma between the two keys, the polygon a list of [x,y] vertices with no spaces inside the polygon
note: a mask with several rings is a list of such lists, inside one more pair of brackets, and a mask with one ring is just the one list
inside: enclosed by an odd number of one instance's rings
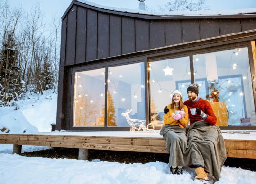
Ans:
{"label": "white snow covering the foreground and the slope left of the cabin", "polygon": [[[0,128],[8,134],[49,132],[55,123],[57,94],[28,95],[15,107],[0,107]],[[56,132],[63,134],[64,132]],[[3,132],[0,132],[3,134]],[[71,134],[71,133],[70,133]],[[119,133],[116,133],[119,134]],[[229,134],[229,133],[225,133]],[[144,134],[145,135],[145,134]],[[237,134],[236,134],[237,135]],[[159,136],[159,135],[150,135]],[[22,146],[22,151],[48,149]],[[12,155],[12,145],[0,144],[0,184],[200,184],[193,181],[194,171],[172,175],[167,163],[125,164],[95,159],[91,162],[75,159],[49,159]],[[211,181],[212,183],[212,181]],[[221,178],[215,184],[255,184],[256,172],[235,167],[222,167]]]}

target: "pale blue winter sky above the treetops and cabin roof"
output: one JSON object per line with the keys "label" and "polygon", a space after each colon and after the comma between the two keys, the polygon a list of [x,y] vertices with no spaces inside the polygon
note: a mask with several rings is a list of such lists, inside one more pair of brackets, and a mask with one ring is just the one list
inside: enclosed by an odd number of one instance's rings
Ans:
{"label": "pale blue winter sky above the treetops and cabin roof", "polygon": [[[138,9],[138,0],[87,0],[96,4],[117,7]],[[145,0],[148,8],[157,9],[158,6],[165,5],[170,0]],[[210,10],[231,10],[256,8],[256,0],[206,0],[206,5],[210,6]],[[72,0],[7,0],[12,7],[19,4],[25,11],[30,9],[37,3],[40,3],[42,12],[45,14],[46,21],[51,21],[53,16],[61,18],[65,10],[68,8]],[[242,2],[242,3],[241,3]]]}

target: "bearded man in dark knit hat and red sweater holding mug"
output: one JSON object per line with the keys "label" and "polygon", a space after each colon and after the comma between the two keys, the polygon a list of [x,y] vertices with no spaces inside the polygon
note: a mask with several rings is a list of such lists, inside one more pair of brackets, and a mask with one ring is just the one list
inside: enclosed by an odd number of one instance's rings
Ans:
{"label": "bearded man in dark knit hat and red sweater holding mug", "polygon": [[[224,139],[217,118],[207,100],[198,97],[199,85],[191,84],[187,88],[190,126],[187,128],[187,163],[195,168],[195,179],[209,181],[208,174],[217,180],[227,156]],[[195,113],[194,113],[195,110]]]}

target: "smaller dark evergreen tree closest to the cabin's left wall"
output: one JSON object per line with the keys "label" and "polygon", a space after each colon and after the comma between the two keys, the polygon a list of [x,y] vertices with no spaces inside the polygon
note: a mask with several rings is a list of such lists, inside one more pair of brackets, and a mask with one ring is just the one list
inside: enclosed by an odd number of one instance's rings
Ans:
{"label": "smaller dark evergreen tree closest to the cabin's left wall", "polygon": [[51,72],[51,64],[48,59],[48,55],[44,58],[43,71],[41,73],[41,81],[43,90],[53,89],[54,76]]}

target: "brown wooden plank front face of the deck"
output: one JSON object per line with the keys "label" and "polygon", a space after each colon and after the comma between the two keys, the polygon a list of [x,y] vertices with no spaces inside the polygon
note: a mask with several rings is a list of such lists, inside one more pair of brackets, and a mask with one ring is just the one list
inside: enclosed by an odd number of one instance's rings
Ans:
{"label": "brown wooden plank front face of the deck", "polygon": [[[256,139],[226,139],[224,136],[224,140],[228,157],[256,159]],[[165,150],[165,140],[160,136],[0,134],[0,144],[168,153]]]}

